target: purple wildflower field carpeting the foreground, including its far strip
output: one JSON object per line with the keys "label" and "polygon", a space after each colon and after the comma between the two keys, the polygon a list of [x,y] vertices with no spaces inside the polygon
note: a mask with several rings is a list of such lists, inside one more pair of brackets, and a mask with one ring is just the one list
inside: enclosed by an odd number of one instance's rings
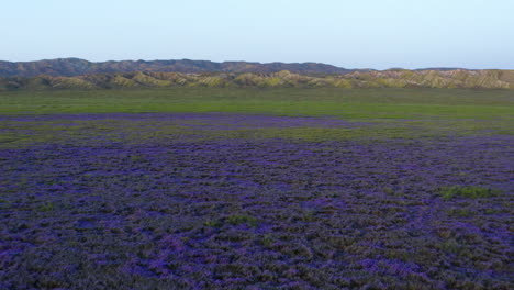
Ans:
{"label": "purple wildflower field carpeting the foreground, including its far strip", "polygon": [[0,289],[514,288],[512,135],[250,136],[377,124],[221,113],[0,121],[18,142],[0,145]]}

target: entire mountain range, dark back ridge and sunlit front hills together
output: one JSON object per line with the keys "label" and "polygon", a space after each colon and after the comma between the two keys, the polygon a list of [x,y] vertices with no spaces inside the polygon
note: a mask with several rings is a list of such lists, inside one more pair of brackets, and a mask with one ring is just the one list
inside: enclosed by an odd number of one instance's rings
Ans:
{"label": "entire mountain range, dark back ridge and sunlit front hills together", "polygon": [[467,88],[514,89],[514,70],[345,69],[325,64],[78,58],[0,62],[0,91],[46,89],[132,89],[164,87],[236,88]]}

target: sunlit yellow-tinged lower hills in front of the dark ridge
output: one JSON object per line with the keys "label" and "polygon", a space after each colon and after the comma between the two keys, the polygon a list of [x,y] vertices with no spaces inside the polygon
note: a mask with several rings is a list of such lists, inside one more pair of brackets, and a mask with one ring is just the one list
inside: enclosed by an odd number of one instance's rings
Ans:
{"label": "sunlit yellow-tinged lower hills in front of the dark ridge", "polygon": [[270,74],[114,72],[75,77],[0,78],[3,90],[213,88],[465,88],[514,89],[514,70],[384,70],[308,76],[288,70]]}

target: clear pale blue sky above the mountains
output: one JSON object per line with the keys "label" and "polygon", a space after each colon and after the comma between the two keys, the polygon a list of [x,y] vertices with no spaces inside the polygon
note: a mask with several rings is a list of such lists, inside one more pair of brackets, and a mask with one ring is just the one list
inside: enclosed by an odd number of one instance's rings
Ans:
{"label": "clear pale blue sky above the mountains", "polygon": [[0,60],[514,69],[514,0],[0,1]]}

